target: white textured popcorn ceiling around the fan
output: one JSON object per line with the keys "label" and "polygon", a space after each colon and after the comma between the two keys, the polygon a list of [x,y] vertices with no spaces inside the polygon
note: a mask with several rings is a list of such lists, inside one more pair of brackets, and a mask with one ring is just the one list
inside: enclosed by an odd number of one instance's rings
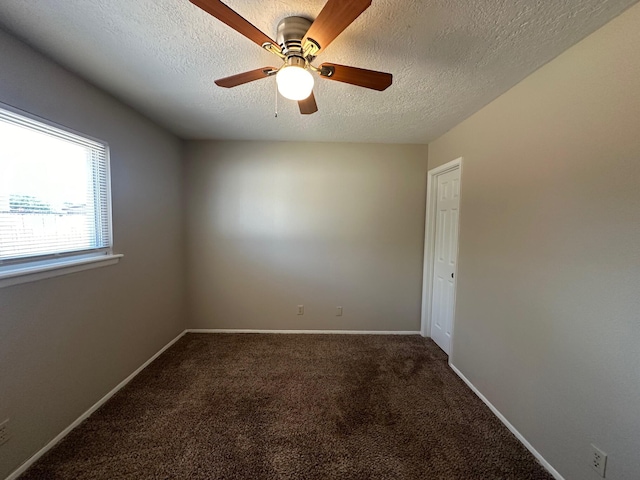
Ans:
{"label": "white textured popcorn ceiling around the fan", "polygon": [[[384,92],[316,80],[301,116],[275,79],[213,80],[278,58],[187,0],[2,0],[0,27],[183,138],[427,143],[637,0],[373,0],[316,60],[394,75]],[[228,0],[272,38],[324,0]]]}

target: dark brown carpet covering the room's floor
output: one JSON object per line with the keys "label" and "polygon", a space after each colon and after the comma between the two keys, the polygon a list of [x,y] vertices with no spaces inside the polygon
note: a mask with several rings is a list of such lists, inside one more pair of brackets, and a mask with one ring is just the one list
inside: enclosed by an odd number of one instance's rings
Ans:
{"label": "dark brown carpet covering the room's floor", "polygon": [[188,334],[22,479],[551,479],[418,336]]}

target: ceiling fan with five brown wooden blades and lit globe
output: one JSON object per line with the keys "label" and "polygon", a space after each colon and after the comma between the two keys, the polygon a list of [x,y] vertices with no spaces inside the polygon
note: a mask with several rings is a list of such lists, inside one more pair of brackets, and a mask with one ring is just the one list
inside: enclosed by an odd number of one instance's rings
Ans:
{"label": "ceiling fan with five brown wooden blades and lit globe", "polygon": [[218,79],[215,83],[220,87],[237,87],[275,75],[280,94],[290,100],[297,100],[300,113],[309,115],[318,111],[313,96],[314,80],[311,72],[317,73],[320,78],[378,91],[391,85],[393,76],[390,73],[335,63],[323,63],[319,67],[311,64],[324,48],[371,5],[371,0],[328,0],[313,22],[303,17],[284,18],[278,24],[277,42],[220,0],[189,1],[283,61],[280,67],[263,67]]}

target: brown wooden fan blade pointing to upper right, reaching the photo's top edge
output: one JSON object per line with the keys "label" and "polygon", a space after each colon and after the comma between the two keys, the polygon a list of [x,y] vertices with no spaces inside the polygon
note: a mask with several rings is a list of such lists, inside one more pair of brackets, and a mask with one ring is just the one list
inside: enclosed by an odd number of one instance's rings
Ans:
{"label": "brown wooden fan blade pointing to upper right, reaching the photo's top edge", "polygon": [[302,45],[312,39],[318,47],[313,55],[317,55],[370,5],[371,0],[328,0],[302,39]]}

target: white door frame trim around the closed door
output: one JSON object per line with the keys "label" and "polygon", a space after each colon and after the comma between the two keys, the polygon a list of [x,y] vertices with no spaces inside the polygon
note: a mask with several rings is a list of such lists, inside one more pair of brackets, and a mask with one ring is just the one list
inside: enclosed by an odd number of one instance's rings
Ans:
{"label": "white door frame trim around the closed door", "polygon": [[[460,199],[462,199],[462,157],[432,168],[427,172],[427,207],[424,221],[424,263],[422,268],[422,312],[420,317],[420,334],[431,336],[431,301],[433,298],[433,261],[435,255],[436,233],[436,193],[438,191],[438,177],[444,173],[458,169],[460,171]],[[456,265],[460,245],[460,215],[458,215],[458,242],[456,251]],[[456,271],[456,275],[458,272]],[[453,328],[455,323],[456,291],[458,279],[453,286],[453,316],[451,320],[451,348],[449,359],[453,356]]]}

